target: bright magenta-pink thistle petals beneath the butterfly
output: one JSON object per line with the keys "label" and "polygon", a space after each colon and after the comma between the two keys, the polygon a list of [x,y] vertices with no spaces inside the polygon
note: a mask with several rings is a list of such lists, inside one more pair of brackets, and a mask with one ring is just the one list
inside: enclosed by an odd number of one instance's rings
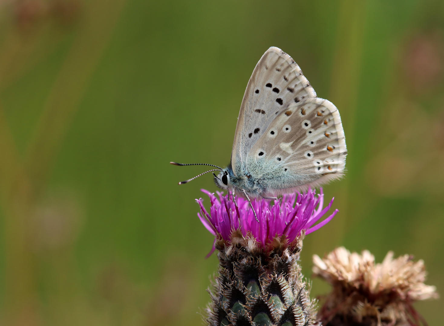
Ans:
{"label": "bright magenta-pink thistle petals beneath the butterfly", "polygon": [[[214,235],[214,244],[217,240],[228,243],[234,231],[240,230],[244,238],[254,237],[260,248],[273,249],[272,243],[276,238],[284,238],[286,244],[291,244],[298,237],[320,229],[336,215],[335,210],[329,217],[314,225],[331,208],[334,198],[329,205],[323,208],[324,194],[317,194],[316,190],[308,190],[306,194],[287,194],[272,203],[265,199],[254,200],[252,205],[257,214],[258,221],[254,217],[249,202],[236,196],[238,207],[234,204],[232,196],[222,195],[217,191],[218,197],[208,190],[202,192],[210,197],[210,213],[207,212],[202,203],[202,198],[196,199],[200,206],[198,217],[202,224]],[[317,208],[316,208],[317,207]],[[210,256],[215,246],[211,249]],[[208,257],[207,256],[207,257]]]}

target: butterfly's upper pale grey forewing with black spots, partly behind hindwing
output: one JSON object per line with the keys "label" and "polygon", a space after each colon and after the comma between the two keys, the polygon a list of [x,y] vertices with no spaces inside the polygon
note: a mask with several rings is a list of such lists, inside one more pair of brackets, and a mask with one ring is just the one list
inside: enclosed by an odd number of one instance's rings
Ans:
{"label": "butterfly's upper pale grey forewing with black spots, partly behind hindwing", "polygon": [[276,116],[309,97],[316,93],[299,66],[281,49],[270,47],[254,68],[242,100],[231,153],[235,175],[245,173],[248,152]]}

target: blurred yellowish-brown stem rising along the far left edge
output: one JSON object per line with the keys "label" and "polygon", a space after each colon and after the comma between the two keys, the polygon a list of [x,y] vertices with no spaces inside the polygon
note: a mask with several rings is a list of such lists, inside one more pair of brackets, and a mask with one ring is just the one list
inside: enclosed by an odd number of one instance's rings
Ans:
{"label": "blurred yellowish-brown stem rising along the far left edge", "polygon": [[[5,311],[8,325],[36,325],[36,282],[30,243],[32,186],[14,151],[0,109],[0,192],[5,227]],[[14,316],[14,318],[8,318]]]}

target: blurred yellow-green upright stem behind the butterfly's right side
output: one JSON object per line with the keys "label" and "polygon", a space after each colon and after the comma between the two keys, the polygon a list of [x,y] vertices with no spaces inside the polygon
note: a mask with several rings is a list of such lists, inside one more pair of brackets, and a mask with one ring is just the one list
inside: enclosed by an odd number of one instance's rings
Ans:
{"label": "blurred yellow-green upright stem behind the butterfly's right side", "polygon": [[[342,0],[339,8],[337,41],[329,100],[341,112],[341,120],[347,136],[347,149],[353,150],[354,115],[357,106],[358,82],[361,67],[361,49],[366,17],[365,0]],[[325,244],[341,244],[347,218],[349,184],[347,177],[335,184],[335,197],[340,216],[330,225],[327,233],[316,233],[309,239],[312,253],[322,252]],[[322,248],[320,248],[322,246]]]}

